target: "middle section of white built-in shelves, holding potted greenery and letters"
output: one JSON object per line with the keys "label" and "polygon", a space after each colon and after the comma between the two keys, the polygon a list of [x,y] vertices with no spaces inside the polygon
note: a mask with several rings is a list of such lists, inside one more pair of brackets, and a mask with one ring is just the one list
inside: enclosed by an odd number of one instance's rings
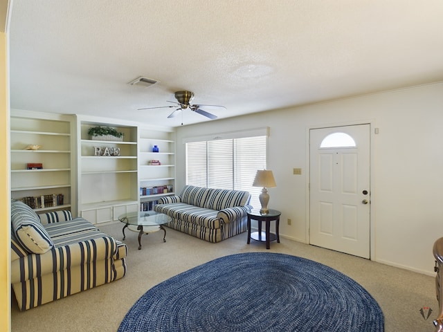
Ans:
{"label": "middle section of white built-in shelves, holding potted greenery and letters", "polygon": [[[79,215],[92,223],[118,219],[138,210],[137,127],[118,122],[99,122],[78,116]],[[92,140],[91,127],[114,127],[123,141]],[[96,148],[118,148],[119,156],[97,156]]]}

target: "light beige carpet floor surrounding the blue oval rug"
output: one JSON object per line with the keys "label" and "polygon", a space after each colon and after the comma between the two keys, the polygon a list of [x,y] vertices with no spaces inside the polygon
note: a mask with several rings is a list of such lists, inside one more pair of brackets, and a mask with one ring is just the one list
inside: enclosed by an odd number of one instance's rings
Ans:
{"label": "light beige carpet floor surrounding the blue oval rug", "polygon": [[[120,223],[100,229],[116,239],[123,238]],[[24,312],[12,299],[12,331],[116,331],[129,308],[152,286],[217,257],[257,251],[305,257],[345,273],[377,300],[387,332],[433,331],[438,311],[433,277],[284,238],[281,243],[271,242],[271,249],[266,250],[261,242],[246,244],[246,236],[243,233],[221,243],[208,243],[167,228],[165,243],[163,232],[143,235],[143,247],[138,250],[137,234],[127,232],[127,274],[123,279]],[[420,313],[424,306],[433,309],[428,320]]]}

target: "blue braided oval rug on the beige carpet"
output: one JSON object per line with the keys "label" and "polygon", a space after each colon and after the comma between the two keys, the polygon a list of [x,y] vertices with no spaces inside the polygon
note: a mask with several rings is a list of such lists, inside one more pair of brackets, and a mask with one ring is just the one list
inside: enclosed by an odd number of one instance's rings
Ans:
{"label": "blue braided oval rug on the beige carpet", "polygon": [[118,331],[383,331],[365,289],[323,264],[251,252],[215,259],[151,288]]}

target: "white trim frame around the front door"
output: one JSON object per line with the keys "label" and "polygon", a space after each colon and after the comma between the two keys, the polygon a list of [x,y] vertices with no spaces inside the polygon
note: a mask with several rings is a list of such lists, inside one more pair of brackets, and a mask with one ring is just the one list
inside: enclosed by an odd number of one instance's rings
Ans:
{"label": "white trim frame around the front door", "polygon": [[361,121],[348,121],[348,122],[335,122],[335,123],[325,123],[325,124],[312,124],[306,127],[306,225],[305,225],[305,239],[306,243],[310,244],[310,230],[311,230],[311,190],[310,190],[310,181],[311,181],[311,149],[310,149],[310,132],[311,129],[322,129],[322,128],[332,128],[332,127],[345,127],[345,126],[356,126],[359,124],[369,124],[370,127],[370,148],[369,148],[369,158],[370,158],[370,170],[369,170],[369,182],[370,182],[370,210],[369,210],[369,243],[370,243],[370,260],[376,261],[376,250],[375,250],[375,218],[374,218],[374,194],[376,193],[376,188],[374,187],[374,135],[375,132],[379,133],[379,128],[375,125],[375,120],[361,120]]}

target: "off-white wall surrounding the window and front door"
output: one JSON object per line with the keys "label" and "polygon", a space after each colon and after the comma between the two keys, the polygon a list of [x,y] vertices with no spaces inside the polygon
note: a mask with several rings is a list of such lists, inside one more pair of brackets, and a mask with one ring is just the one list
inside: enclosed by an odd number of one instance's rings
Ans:
{"label": "off-white wall surrounding the window and front door", "polygon": [[359,122],[373,125],[372,260],[433,275],[433,243],[443,237],[443,82],[179,127],[177,190],[185,184],[183,138],[270,127],[268,169],[278,187],[269,189],[269,206],[282,211],[280,236],[309,242],[308,129]]}

